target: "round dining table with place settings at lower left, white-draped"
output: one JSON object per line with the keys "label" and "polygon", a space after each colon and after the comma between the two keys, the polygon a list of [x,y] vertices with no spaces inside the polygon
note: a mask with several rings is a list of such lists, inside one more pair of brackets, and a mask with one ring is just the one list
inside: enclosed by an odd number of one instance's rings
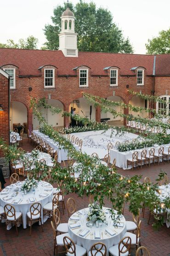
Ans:
{"label": "round dining table with place settings at lower left, white-draped", "polygon": [[[47,220],[47,216],[43,218],[43,206],[52,201],[53,186],[45,181],[38,182],[35,192],[32,189],[25,195],[21,191],[22,182],[17,182],[7,186],[0,193],[0,205],[4,207],[6,204],[11,204],[16,212],[22,212],[23,228],[27,228],[27,213],[30,211],[30,206],[34,202],[40,202],[41,204],[41,220],[44,223]],[[10,229],[8,226],[7,229]]]}

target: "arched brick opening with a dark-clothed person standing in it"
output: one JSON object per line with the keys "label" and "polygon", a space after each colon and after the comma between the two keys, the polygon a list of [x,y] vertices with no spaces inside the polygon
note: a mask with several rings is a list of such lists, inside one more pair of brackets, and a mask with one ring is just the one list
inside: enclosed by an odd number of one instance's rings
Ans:
{"label": "arched brick opening with a dark-clothed person standing in it", "polygon": [[[71,108],[72,107],[76,108],[74,113],[79,114],[82,117],[87,117],[89,119],[90,119],[90,109],[91,109],[91,120],[95,121],[96,109],[95,109],[95,107],[93,105],[90,105],[85,98],[75,99],[69,105],[69,112],[71,112]],[[70,122],[71,122],[71,119],[70,119]]]}

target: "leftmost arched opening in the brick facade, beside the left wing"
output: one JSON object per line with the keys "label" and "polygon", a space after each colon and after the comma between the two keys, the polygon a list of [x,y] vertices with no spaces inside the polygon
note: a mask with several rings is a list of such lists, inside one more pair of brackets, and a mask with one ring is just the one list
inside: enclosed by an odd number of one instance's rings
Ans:
{"label": "leftmost arched opening in the brick facade, beside the left wing", "polygon": [[20,124],[23,126],[27,124],[27,107],[19,101],[12,101],[10,106],[10,129],[11,130],[13,130],[14,124]]}

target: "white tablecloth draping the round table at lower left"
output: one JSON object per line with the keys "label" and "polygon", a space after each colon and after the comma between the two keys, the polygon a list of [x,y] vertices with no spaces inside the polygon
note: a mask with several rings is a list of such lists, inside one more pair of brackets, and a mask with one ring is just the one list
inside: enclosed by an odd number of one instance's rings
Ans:
{"label": "white tablecloth draping the round table at lower left", "polygon": [[[17,196],[15,196],[14,194],[16,194],[15,188],[20,188],[23,182],[20,183],[20,185],[10,185],[7,186],[0,194],[0,205],[2,207],[4,207],[6,204],[11,204],[12,206],[14,206],[16,212],[22,212],[23,214],[23,228],[27,228],[27,212],[29,212],[30,206],[32,203],[34,202],[40,202],[41,204],[41,219],[42,219],[42,223],[45,222],[45,220],[47,220],[47,218],[44,220],[43,219],[43,206],[52,201],[52,195],[53,195],[53,186],[45,181],[41,181],[38,184],[38,187],[35,189],[35,195],[34,193],[31,191],[27,192],[27,195],[23,195],[23,191],[18,191]],[[45,189],[47,189],[47,187],[51,188],[51,191],[46,191]],[[3,193],[7,191],[8,195],[4,195]],[[45,197],[41,197],[40,194],[45,193],[47,194]],[[11,196],[14,195],[12,197],[11,200],[6,201],[5,197],[6,196]],[[34,197],[36,200],[34,202],[30,202],[29,198],[30,197]],[[17,198],[21,198],[22,201],[20,203],[13,203],[14,199]]]}

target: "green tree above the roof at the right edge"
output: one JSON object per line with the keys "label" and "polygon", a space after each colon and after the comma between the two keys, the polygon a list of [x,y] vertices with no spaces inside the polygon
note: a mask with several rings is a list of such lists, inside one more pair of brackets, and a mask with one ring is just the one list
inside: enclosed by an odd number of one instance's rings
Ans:
{"label": "green tree above the roof at the right edge", "polygon": [[159,36],[147,42],[147,54],[170,54],[170,29],[160,31]]}

